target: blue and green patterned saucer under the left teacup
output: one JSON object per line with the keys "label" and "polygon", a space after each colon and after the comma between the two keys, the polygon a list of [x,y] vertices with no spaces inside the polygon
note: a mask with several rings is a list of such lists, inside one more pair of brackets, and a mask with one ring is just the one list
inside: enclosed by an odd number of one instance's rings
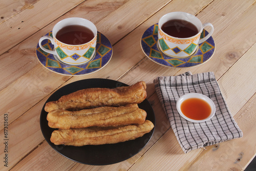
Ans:
{"label": "blue and green patterned saucer under the left teacup", "polygon": [[[49,32],[46,35],[52,36],[52,32]],[[42,41],[42,45],[46,49],[53,50],[54,48],[51,41],[48,39]],[[80,66],[66,65],[65,63],[60,62],[57,57],[55,58],[54,55],[41,50],[39,44],[37,44],[36,47],[36,56],[44,67],[58,74],[72,76],[86,75],[102,69],[108,64],[112,54],[113,48],[111,42],[100,32],[97,33],[96,54],[94,58],[88,63]]]}

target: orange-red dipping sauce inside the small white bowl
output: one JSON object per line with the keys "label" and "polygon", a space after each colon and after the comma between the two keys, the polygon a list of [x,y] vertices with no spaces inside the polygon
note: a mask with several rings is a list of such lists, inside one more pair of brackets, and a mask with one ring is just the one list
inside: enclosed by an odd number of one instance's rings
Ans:
{"label": "orange-red dipping sauce inside the small white bowl", "polygon": [[210,105],[199,98],[189,98],[181,103],[181,112],[188,118],[194,120],[203,120],[210,116]]}

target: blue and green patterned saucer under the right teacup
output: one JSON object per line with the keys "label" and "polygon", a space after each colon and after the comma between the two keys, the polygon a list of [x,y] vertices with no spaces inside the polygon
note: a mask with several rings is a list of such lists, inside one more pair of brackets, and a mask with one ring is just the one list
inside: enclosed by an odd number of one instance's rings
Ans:
{"label": "blue and green patterned saucer under the right teacup", "polygon": [[[208,32],[203,30],[200,38],[205,37],[207,34]],[[215,52],[215,42],[211,36],[202,44],[199,44],[198,51],[194,55],[182,59],[163,54],[157,47],[157,40],[158,24],[155,24],[143,33],[141,48],[148,58],[165,67],[187,68],[199,66],[208,61]]]}

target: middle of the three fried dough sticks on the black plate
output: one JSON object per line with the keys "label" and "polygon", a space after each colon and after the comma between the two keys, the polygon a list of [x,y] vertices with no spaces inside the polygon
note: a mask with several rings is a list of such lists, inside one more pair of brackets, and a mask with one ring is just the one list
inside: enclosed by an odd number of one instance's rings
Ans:
{"label": "middle of the three fried dough sticks on the black plate", "polygon": [[55,110],[47,115],[48,125],[52,128],[70,129],[89,126],[119,126],[141,124],[146,112],[137,106],[104,106],[80,111]]}

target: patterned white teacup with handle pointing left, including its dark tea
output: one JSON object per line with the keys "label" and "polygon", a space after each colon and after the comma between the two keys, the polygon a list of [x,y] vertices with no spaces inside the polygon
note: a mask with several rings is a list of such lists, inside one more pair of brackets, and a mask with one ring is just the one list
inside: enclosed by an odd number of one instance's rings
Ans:
{"label": "patterned white teacup with handle pointing left, including its dark tea", "polygon": [[[41,42],[49,39],[54,50],[48,50]],[[51,36],[42,36],[39,46],[47,53],[53,54],[67,65],[83,65],[96,53],[97,28],[90,20],[78,17],[66,18],[58,22]]]}

